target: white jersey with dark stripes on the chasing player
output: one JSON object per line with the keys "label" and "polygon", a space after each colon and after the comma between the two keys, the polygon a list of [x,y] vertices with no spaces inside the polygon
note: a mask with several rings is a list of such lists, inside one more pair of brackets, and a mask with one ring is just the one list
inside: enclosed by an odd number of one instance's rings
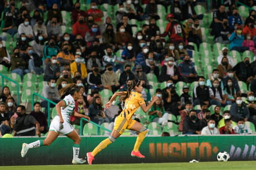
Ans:
{"label": "white jersey with dark stripes on the chasing player", "polygon": [[61,115],[64,121],[69,122],[69,117],[75,109],[75,101],[71,95],[65,96],[63,101],[66,104],[66,107],[61,107]]}

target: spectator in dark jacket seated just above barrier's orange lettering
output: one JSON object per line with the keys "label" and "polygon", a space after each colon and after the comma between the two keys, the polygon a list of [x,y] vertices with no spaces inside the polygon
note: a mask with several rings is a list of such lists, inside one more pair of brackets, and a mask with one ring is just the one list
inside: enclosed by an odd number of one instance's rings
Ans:
{"label": "spectator in dark jacket seated just above barrier's orange lettering", "polygon": [[202,130],[202,125],[200,120],[197,119],[197,112],[191,110],[189,116],[187,116],[183,122],[182,134],[187,135],[200,135]]}

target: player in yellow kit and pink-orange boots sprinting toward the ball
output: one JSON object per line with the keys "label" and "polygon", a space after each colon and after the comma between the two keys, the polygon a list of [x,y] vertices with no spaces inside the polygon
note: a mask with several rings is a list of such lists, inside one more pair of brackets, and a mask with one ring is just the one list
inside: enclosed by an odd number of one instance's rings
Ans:
{"label": "player in yellow kit and pink-orange boots sprinting toward the ball", "polygon": [[134,145],[134,150],[132,150],[130,155],[145,158],[145,156],[140,153],[139,148],[148,132],[148,129],[139,122],[133,120],[132,116],[139,107],[146,113],[158,99],[158,96],[153,96],[150,104],[146,106],[141,94],[143,90],[142,85],[142,81],[137,79],[133,80],[132,83],[128,85],[127,91],[114,93],[109,102],[105,104],[105,108],[108,109],[116,97],[120,96],[121,103],[123,103],[122,112],[117,116],[114,129],[110,136],[103,140],[92,152],[87,153],[87,160],[89,164],[92,164],[94,156],[97,153],[105,149],[109,144],[113,143],[126,129],[135,130],[139,133]]}

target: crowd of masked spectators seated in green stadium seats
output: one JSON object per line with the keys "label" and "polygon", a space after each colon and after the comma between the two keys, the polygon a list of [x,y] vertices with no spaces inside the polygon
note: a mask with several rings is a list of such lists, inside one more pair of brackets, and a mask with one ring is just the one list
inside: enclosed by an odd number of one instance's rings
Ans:
{"label": "crowd of masked spectators seated in green stadium seats", "polygon": [[[256,2],[241,2],[248,17],[235,1],[213,1],[213,12],[203,13],[191,0],[4,0],[0,64],[23,83],[26,74],[43,76],[37,91],[55,103],[59,89],[77,84],[83,95],[75,111],[100,125],[113,127],[121,110],[118,101],[104,109],[104,98],[140,79],[145,101],[159,97],[147,115],[135,116],[150,134],[252,134]],[[1,88],[2,135],[46,134],[47,101],[25,114],[30,108],[17,106],[10,88]],[[74,116],[70,122],[80,124]]]}

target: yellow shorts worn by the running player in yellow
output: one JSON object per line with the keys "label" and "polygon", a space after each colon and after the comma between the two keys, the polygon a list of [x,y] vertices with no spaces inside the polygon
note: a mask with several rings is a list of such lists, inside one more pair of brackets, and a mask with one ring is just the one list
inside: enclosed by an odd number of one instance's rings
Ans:
{"label": "yellow shorts worn by the running player in yellow", "polygon": [[135,122],[137,121],[134,121],[134,119],[127,120],[126,117],[121,117],[121,115],[119,115],[114,123],[114,130],[119,132],[119,134],[122,134],[124,133],[124,130],[130,129]]}

